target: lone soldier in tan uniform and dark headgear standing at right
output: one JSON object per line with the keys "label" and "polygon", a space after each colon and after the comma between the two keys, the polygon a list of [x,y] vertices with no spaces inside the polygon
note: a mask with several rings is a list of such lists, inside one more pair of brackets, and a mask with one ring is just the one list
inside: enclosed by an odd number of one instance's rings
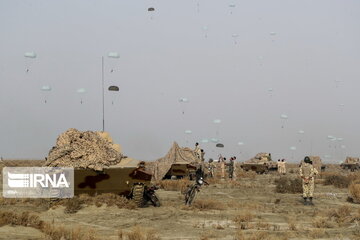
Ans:
{"label": "lone soldier in tan uniform and dark headgear standing at right", "polygon": [[[312,161],[308,156],[304,158],[304,163],[300,166],[300,177],[303,179],[303,198],[304,205],[314,205],[312,202],[314,194],[314,177],[318,174],[313,167]],[[309,198],[309,202],[307,199]]]}

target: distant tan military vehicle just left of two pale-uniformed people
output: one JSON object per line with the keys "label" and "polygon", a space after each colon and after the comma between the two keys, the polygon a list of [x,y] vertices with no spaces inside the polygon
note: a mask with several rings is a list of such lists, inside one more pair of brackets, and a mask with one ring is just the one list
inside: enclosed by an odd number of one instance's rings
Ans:
{"label": "distant tan military vehicle just left of two pale-uniformed people", "polygon": [[269,153],[258,153],[256,156],[240,165],[244,171],[254,171],[259,174],[277,170],[277,163],[271,160]]}

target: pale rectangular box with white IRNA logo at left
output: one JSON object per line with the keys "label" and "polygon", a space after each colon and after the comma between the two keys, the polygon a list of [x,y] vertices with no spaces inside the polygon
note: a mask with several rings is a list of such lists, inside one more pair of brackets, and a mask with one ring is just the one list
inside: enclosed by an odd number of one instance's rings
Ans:
{"label": "pale rectangular box with white IRNA logo at left", "polygon": [[72,198],[74,169],[61,167],[4,167],[5,198]]}

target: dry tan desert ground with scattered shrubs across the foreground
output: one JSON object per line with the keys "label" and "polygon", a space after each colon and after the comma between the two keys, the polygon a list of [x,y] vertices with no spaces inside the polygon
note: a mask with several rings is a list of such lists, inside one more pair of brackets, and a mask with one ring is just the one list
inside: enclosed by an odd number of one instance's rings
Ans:
{"label": "dry tan desert ground with scattered shrubs across the foreground", "polygon": [[190,207],[182,194],[188,180],[157,183],[159,208],[116,206],[113,196],[1,198],[0,239],[360,239],[360,205],[349,201],[356,172],[328,166],[316,179],[315,205],[304,206],[299,181],[281,185],[299,179],[296,164],[287,170],[281,179],[239,168],[236,180],[209,179]]}

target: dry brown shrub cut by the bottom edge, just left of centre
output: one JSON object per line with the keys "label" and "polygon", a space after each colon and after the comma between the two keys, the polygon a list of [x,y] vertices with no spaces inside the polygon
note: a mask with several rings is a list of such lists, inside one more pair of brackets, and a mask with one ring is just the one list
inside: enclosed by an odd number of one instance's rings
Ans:
{"label": "dry brown shrub cut by the bottom edge, just left of centre", "polygon": [[135,226],[130,231],[119,230],[119,240],[160,240],[156,231]]}

